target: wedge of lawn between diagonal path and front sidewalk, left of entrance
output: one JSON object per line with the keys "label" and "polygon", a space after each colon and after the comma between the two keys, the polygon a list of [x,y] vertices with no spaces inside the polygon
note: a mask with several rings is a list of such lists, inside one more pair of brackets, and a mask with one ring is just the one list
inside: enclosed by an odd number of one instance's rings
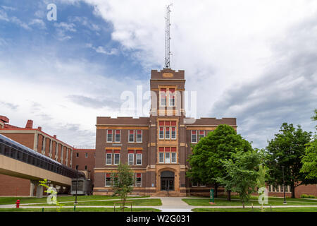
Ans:
{"label": "wedge of lawn between diagonal path and front sidewalk, left of entrance", "polygon": [[[160,198],[132,199],[129,201],[132,201],[132,206],[161,206],[162,205]],[[116,201],[112,201],[112,200],[109,200],[109,201],[85,201],[85,202],[77,203],[77,206],[114,206],[114,203],[116,203],[116,202],[118,202],[118,200],[116,200]],[[73,202],[61,203],[61,204],[63,206],[74,206]],[[130,206],[131,203],[126,203],[125,205]],[[55,205],[49,205],[49,204],[45,203],[45,204],[33,204],[33,205],[27,205],[27,206],[55,206]],[[120,204],[116,203],[116,206],[120,206]]]}

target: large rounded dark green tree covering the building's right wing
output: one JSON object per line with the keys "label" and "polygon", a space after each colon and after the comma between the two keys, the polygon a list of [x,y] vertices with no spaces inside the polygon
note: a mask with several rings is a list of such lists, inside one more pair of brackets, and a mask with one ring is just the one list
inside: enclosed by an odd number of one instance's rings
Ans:
{"label": "large rounded dark green tree covering the building's right wing", "polygon": [[[217,188],[221,184],[216,178],[225,177],[227,172],[221,160],[228,160],[232,153],[237,151],[251,150],[251,144],[237,134],[232,126],[219,125],[206,137],[192,146],[192,155],[189,156],[190,169],[187,177],[194,182],[213,184],[215,186],[215,196]],[[230,190],[228,190],[228,200],[230,200]]]}

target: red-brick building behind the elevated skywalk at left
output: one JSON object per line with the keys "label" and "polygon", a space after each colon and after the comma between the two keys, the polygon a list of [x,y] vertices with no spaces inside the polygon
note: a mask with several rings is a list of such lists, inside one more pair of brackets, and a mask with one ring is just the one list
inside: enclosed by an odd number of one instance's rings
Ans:
{"label": "red-brick building behind the elevated skywalk at left", "polygon": [[[63,165],[72,167],[73,147],[58,140],[56,135],[51,136],[45,133],[41,127],[33,129],[32,120],[27,120],[25,128],[8,124],[9,119],[4,116],[0,116],[0,121],[0,134],[38,153],[51,157],[51,159],[61,162]],[[61,189],[59,186],[57,188]],[[0,174],[0,196],[35,195],[36,191],[34,190],[33,194],[31,194],[31,191],[33,189],[30,180]]]}

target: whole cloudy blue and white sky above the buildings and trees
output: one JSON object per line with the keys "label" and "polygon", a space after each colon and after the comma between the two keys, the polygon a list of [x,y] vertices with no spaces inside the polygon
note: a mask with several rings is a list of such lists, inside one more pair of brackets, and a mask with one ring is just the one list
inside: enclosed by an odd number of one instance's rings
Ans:
{"label": "whole cloudy blue and white sky above the buildings and trees", "polygon": [[0,0],[0,115],[70,145],[95,143],[97,117],[147,117],[122,106],[163,69],[170,2],[170,65],[198,118],[237,118],[254,148],[283,122],[315,131],[315,0]]}

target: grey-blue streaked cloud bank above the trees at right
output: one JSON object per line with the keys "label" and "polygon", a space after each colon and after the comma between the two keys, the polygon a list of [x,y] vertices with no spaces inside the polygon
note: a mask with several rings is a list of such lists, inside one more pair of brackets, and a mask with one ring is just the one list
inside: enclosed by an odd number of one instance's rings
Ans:
{"label": "grey-blue streaked cloud bank above the trees at right", "polygon": [[[283,122],[313,131],[317,106],[317,17],[294,25],[272,43],[275,61],[255,81],[232,86],[211,113],[235,114],[238,131],[263,148]],[[292,38],[290,38],[292,37]]]}

